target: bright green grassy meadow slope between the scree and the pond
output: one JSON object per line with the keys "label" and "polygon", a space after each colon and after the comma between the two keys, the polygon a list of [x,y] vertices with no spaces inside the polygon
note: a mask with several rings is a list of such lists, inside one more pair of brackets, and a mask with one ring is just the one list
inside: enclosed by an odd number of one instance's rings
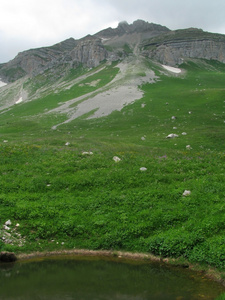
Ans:
{"label": "bright green grassy meadow slope between the scree and the pond", "polygon": [[108,117],[54,131],[65,116],[40,115],[55,105],[46,98],[1,115],[2,249],[124,249],[225,269],[225,65],[189,62],[171,77],[149,67],[160,81]]}

